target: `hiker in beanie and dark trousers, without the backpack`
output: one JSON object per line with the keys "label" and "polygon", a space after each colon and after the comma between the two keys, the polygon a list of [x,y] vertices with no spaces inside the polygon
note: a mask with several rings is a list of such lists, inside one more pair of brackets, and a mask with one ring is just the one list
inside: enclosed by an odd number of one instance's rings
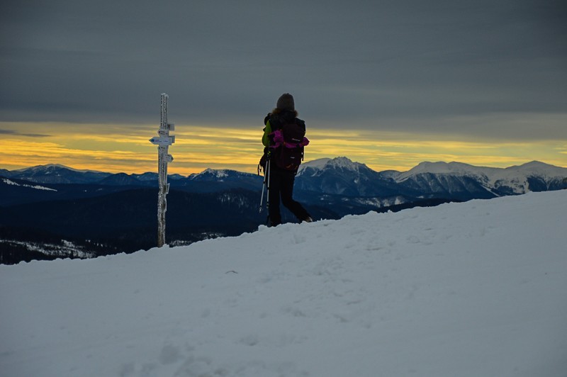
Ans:
{"label": "hiker in beanie and dark trousers, without the backpack", "polygon": [[[274,147],[274,132],[281,130],[282,126],[295,123],[303,130],[305,134],[305,122],[297,118],[295,101],[291,94],[282,94],[277,103],[276,108],[264,118],[264,136],[262,144],[264,145],[264,157],[270,159],[272,157],[271,148]],[[265,166],[265,165],[264,165]],[[281,224],[280,198],[283,206],[286,206],[291,213],[298,218],[300,222],[311,223],[313,218],[301,206],[301,203],[293,200],[293,183],[296,178],[296,169],[284,169],[279,164],[270,163],[269,168],[269,208],[268,217],[269,225],[274,227]]]}

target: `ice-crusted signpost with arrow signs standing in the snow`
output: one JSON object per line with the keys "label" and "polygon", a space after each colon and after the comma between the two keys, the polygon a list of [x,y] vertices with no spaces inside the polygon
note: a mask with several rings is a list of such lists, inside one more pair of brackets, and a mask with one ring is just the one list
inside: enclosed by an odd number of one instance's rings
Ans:
{"label": "ice-crusted signpost with arrow signs standing in the snow", "polygon": [[171,154],[168,154],[169,145],[175,142],[175,136],[169,135],[169,131],[175,130],[174,123],[167,123],[167,99],[169,96],[162,93],[162,121],[159,124],[157,134],[152,137],[150,142],[157,145],[157,167],[159,174],[159,191],[157,194],[157,247],[165,244],[165,211],[167,201],[165,196],[169,191],[167,183],[167,164],[173,161]]}

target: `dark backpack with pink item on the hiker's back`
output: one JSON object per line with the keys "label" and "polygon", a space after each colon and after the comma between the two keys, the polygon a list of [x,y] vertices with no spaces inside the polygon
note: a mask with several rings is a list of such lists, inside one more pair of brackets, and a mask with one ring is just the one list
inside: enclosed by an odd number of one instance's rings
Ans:
{"label": "dark backpack with pink item on the hiker's back", "polygon": [[269,118],[273,131],[269,135],[271,161],[281,169],[297,172],[303,161],[304,147],[309,144],[305,137],[305,122],[286,113],[266,118]]}

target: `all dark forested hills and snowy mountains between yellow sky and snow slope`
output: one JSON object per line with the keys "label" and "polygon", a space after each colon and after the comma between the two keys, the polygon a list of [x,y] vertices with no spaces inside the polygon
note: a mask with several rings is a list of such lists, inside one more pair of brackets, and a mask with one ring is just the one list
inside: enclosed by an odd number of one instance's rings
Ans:
{"label": "all dark forested hills and snowy mountains between yellow sky and snow slope", "polygon": [[[168,181],[169,244],[251,232],[266,221],[265,210],[259,213],[262,176],[206,169],[173,174]],[[542,162],[505,169],[422,162],[408,171],[374,171],[337,157],[302,164],[294,196],[313,218],[337,219],[563,188],[567,169]],[[62,250],[61,256],[77,257],[148,249],[155,244],[156,213],[156,173],[111,174],[54,164],[0,169],[0,263],[31,254],[37,259],[42,243]],[[286,210],[283,217],[295,220]],[[28,257],[22,257],[23,250]]]}

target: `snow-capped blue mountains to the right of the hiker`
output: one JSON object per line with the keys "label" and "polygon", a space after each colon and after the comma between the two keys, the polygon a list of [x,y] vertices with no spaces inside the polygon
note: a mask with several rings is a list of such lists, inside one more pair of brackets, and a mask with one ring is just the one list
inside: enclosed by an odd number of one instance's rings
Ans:
{"label": "snow-capped blue mountains to the right of the hiker", "polygon": [[451,199],[553,191],[567,188],[567,168],[529,162],[505,169],[460,162],[422,162],[409,171],[376,172],[346,157],[320,159],[300,167],[303,190],[344,196],[415,196]]}

